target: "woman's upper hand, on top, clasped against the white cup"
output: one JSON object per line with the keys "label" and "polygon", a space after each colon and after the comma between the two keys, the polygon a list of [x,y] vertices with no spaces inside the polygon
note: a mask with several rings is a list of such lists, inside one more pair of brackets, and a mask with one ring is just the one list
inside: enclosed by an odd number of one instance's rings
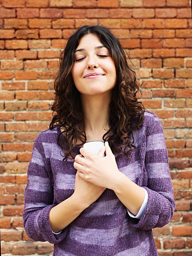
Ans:
{"label": "woman's upper hand, on top, clasped against the white cup", "polygon": [[[104,152],[106,156],[102,157]],[[79,170],[79,177],[97,186],[112,189],[120,176],[120,171],[108,142],[105,142],[105,146],[97,155],[85,148],[80,148],[80,153],[87,159],[81,155],[75,156],[74,168]]]}

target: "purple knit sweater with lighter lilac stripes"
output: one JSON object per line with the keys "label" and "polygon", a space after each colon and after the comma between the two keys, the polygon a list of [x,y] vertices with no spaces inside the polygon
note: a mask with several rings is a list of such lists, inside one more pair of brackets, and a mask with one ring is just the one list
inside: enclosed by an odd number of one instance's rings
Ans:
{"label": "purple knit sweater with lighter lilac stripes", "polygon": [[[74,160],[62,161],[56,143],[60,127],[41,132],[28,166],[23,223],[28,237],[54,243],[54,256],[157,256],[152,228],[170,222],[175,201],[161,120],[149,111],[133,131],[134,148],[128,158],[115,154],[118,169],[148,192],[141,219],[131,218],[115,192],[105,189],[72,223],[55,235],[49,212],[74,192]],[[62,141],[62,138],[61,138]],[[74,147],[79,153],[79,147]]]}

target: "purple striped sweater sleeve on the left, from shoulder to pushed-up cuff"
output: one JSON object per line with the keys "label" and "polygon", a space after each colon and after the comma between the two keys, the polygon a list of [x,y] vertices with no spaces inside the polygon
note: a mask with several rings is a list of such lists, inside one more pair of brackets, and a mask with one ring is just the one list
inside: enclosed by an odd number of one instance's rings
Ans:
{"label": "purple striped sweater sleeve on the left, from shoulder to pushed-up cuff", "polygon": [[53,203],[52,172],[39,138],[38,135],[33,144],[31,161],[28,165],[23,225],[29,238],[35,241],[59,243],[66,236],[68,227],[59,234],[54,234],[51,230],[49,212],[56,206]]}

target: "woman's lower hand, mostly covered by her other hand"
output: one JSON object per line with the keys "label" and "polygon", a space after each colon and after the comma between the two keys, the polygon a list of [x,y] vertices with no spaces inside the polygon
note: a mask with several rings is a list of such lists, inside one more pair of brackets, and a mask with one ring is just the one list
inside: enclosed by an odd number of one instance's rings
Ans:
{"label": "woman's lower hand, mostly covered by her other hand", "polygon": [[[79,156],[83,157],[82,155]],[[102,195],[106,188],[87,182],[81,179],[78,174],[79,171],[77,170],[73,196],[77,198],[80,204],[87,208]]]}

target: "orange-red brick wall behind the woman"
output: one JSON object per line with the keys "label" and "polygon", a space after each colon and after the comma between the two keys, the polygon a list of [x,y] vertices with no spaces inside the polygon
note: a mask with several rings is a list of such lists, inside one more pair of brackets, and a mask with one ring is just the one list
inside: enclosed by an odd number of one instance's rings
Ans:
{"label": "orange-red brick wall behind the woman", "polygon": [[2,254],[52,255],[23,230],[33,142],[51,120],[53,76],[67,38],[84,24],[111,28],[162,121],[177,207],[153,230],[159,256],[192,255],[192,23],[188,0],[0,1],[0,228]]}

